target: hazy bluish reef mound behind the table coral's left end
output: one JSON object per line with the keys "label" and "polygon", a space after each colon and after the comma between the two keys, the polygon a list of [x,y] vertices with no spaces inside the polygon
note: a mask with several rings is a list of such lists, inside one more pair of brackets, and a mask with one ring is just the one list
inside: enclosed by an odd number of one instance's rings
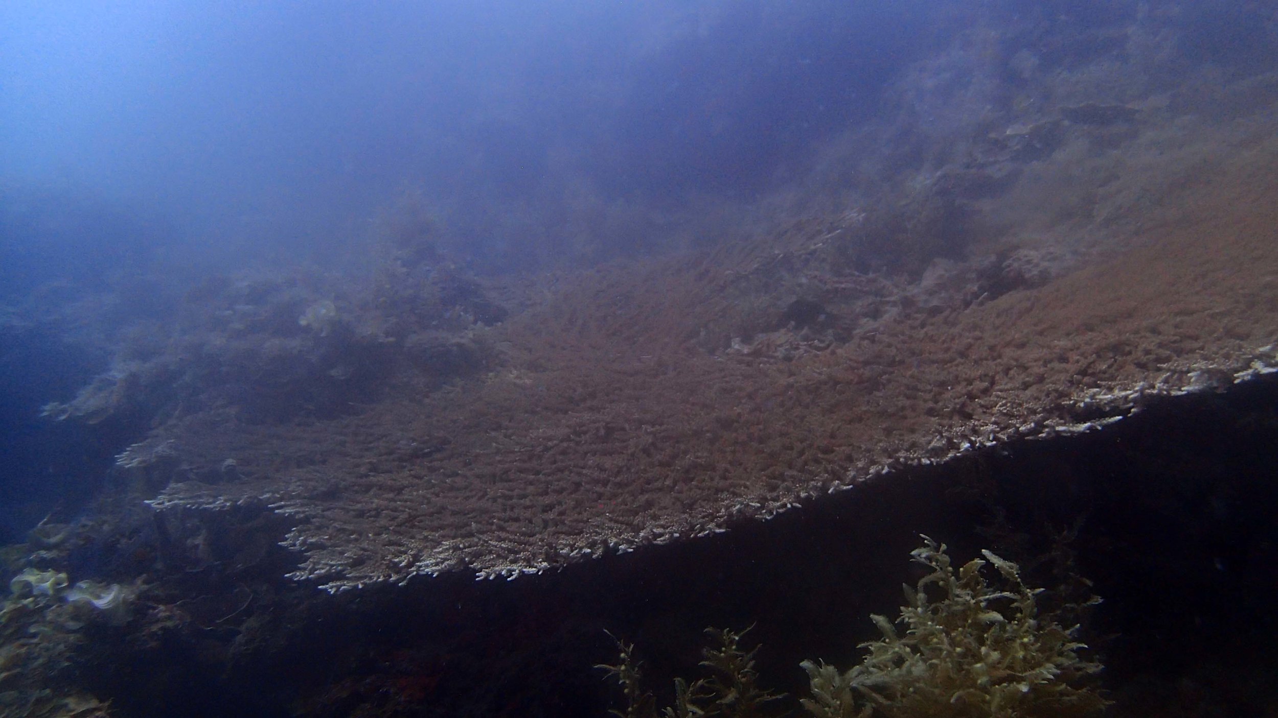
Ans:
{"label": "hazy bluish reef mound behind the table coral's left end", "polygon": [[331,418],[392,387],[428,390],[493,359],[483,328],[506,309],[437,257],[383,257],[374,277],[204,277],[175,298],[174,316],[120,332],[111,367],[42,414],[87,424],[234,408],[238,420]]}

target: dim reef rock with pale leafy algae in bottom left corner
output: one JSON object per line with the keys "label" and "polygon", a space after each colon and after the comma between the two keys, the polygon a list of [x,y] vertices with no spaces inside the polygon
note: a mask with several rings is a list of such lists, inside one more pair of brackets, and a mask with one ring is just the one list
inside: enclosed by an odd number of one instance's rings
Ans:
{"label": "dim reef rock with pale leafy algae in bottom left corner", "polygon": [[[198,686],[193,676],[220,676],[227,657],[268,650],[257,635],[266,618],[247,609],[268,600],[262,576],[280,583],[280,531],[262,516],[226,528],[115,497],[93,519],[42,524],[26,546],[5,547],[17,575],[0,603],[0,715],[133,715],[137,696]],[[226,645],[204,653],[217,641]],[[250,703],[234,686],[220,692],[227,705]]]}

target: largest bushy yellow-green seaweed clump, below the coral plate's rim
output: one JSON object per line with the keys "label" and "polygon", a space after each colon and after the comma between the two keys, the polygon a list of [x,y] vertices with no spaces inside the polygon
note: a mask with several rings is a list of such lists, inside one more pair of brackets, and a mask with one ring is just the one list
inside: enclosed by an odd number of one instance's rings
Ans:
{"label": "largest bushy yellow-green seaweed clump, below the coral plate's rim", "polygon": [[[1065,718],[1104,709],[1108,701],[1088,685],[1100,664],[1079,657],[1086,645],[1072,638],[1077,626],[1039,613],[1043,589],[1028,588],[1015,563],[989,551],[955,571],[944,544],[923,539],[911,556],[932,572],[905,586],[897,620],[905,635],[873,616],[883,638],[861,644],[869,655],[859,666],[840,672],[803,662],[813,692],[804,708],[818,718]],[[987,563],[999,586],[982,575]]]}

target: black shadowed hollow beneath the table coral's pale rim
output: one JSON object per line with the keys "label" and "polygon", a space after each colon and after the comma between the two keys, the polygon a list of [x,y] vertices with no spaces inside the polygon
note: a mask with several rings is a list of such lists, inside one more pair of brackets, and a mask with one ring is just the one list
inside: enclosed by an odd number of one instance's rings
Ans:
{"label": "black shadowed hollow beneath the table coral's pale rim", "polygon": [[[1079,622],[1062,606],[1105,597],[1076,640],[1104,657],[1109,714],[1263,714],[1274,700],[1274,655],[1256,627],[1268,625],[1275,565],[1275,406],[1278,377],[1155,401],[1103,431],[1010,442],[704,540],[516,581],[452,574],[316,592],[281,579],[296,556],[276,543],[281,517],[261,507],[161,512],[167,539],[150,542],[133,540],[139,525],[77,528],[20,553],[38,553],[45,570],[88,558],[150,575],[133,622],[95,622],[73,652],[82,672],[59,681],[121,715],[183,714],[198,701],[208,715],[594,718],[625,708],[590,669],[617,663],[604,629],[635,641],[642,690],[672,707],[674,677],[705,677],[702,649],[716,644],[703,627],[716,622],[755,626],[739,648],[762,646],[757,685],[789,694],[777,713],[800,715],[797,698],[810,698],[800,661],[858,664],[855,646],[882,638],[866,616],[895,616],[900,585],[928,571],[905,560],[916,531],[946,537],[951,556],[990,547],[1015,558],[1026,586],[1053,586],[1035,602],[1061,626]],[[104,548],[119,557],[104,561]],[[993,566],[982,572],[1006,588]],[[1095,585],[1068,580],[1079,574]],[[27,636],[27,625],[5,626]],[[40,677],[15,673],[28,675]]]}

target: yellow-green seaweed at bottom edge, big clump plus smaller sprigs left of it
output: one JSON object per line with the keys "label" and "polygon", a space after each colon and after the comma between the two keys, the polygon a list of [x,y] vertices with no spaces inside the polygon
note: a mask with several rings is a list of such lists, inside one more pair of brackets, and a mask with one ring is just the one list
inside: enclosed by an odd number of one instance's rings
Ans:
{"label": "yellow-green seaweed at bottom edge, big clump plus smaller sprigs left of it", "polygon": [[[1100,671],[1084,661],[1086,645],[1074,640],[1077,626],[1065,627],[1066,608],[1039,612],[1020,569],[989,551],[957,571],[946,546],[923,537],[911,552],[930,572],[905,588],[906,606],[896,625],[872,616],[883,638],[860,664],[847,671],[804,661],[812,696],[800,700],[817,718],[1072,718],[1098,714],[1108,704],[1089,678]],[[1001,579],[990,585],[982,569],[993,565]],[[929,598],[929,592],[934,598]],[[1089,603],[1099,599],[1093,598]],[[703,652],[709,678],[675,681],[675,705],[665,718],[762,718],[781,696],[758,686],[754,654],[744,652],[732,631],[707,631],[717,643]],[[653,695],[643,690],[634,646],[619,641],[616,666],[601,666],[621,684],[625,710],[619,718],[652,718]]]}

